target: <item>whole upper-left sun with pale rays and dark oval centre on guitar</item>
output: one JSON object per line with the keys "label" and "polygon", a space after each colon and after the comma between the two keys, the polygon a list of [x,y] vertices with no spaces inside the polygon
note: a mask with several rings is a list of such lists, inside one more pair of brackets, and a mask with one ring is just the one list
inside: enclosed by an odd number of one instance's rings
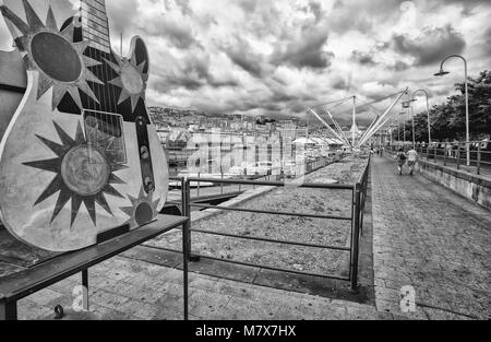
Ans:
{"label": "whole upper-left sun with pale rays and dark oval centre on guitar", "polygon": [[51,7],[48,9],[46,24],[44,24],[26,0],[23,0],[23,5],[27,23],[7,7],[1,7],[1,12],[8,25],[13,25],[22,34],[16,39],[16,44],[20,46],[20,52],[27,68],[39,71],[37,98],[39,99],[52,89],[53,110],[67,93],[82,109],[80,90],[98,103],[87,82],[97,84],[103,82],[87,68],[100,63],[83,55],[89,43],[74,43],[73,26],[60,33]]}

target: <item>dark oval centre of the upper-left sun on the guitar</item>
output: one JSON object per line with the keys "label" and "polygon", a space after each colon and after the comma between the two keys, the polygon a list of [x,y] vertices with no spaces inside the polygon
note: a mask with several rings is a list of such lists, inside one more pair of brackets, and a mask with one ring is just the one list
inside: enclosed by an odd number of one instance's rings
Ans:
{"label": "dark oval centre of the upper-left sun on the guitar", "polygon": [[59,35],[41,32],[31,43],[33,59],[51,79],[75,82],[82,73],[82,62],[72,45]]}

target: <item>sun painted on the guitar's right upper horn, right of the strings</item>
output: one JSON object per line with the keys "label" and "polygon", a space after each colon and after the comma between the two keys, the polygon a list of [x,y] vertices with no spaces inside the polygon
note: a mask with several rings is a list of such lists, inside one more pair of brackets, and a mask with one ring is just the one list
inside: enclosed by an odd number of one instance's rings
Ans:
{"label": "sun painted on the guitar's right upper horn, right of the strings", "polygon": [[[116,56],[116,54],[115,54]],[[121,95],[118,105],[131,98],[131,109],[134,111],[140,99],[145,99],[146,83],[148,73],[145,73],[145,62],[136,66],[136,58],[116,58],[118,64],[106,60],[106,62],[119,74],[109,83],[121,87]]]}

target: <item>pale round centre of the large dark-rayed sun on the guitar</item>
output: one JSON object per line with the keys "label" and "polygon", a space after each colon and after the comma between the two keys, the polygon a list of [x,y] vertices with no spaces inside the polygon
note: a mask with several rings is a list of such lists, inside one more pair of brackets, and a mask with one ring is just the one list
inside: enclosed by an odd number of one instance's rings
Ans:
{"label": "pale round centre of the large dark-rayed sun on the guitar", "polygon": [[82,145],[67,153],[61,164],[61,176],[70,190],[82,197],[91,197],[106,187],[110,167],[100,151]]}

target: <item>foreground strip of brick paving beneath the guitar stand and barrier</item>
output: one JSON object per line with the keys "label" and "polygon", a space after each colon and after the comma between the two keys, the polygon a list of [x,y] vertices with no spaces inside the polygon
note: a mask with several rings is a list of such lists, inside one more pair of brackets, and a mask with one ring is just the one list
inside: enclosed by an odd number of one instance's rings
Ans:
{"label": "foreground strip of brick paving beneath the guitar stand and barrier", "polygon": [[[182,271],[121,257],[89,270],[91,312],[105,320],[181,320]],[[52,319],[61,305],[70,312],[80,276],[72,276],[19,303],[22,320]],[[262,287],[190,273],[190,319],[335,320],[399,319],[374,306]],[[68,318],[87,316],[71,314]]]}

